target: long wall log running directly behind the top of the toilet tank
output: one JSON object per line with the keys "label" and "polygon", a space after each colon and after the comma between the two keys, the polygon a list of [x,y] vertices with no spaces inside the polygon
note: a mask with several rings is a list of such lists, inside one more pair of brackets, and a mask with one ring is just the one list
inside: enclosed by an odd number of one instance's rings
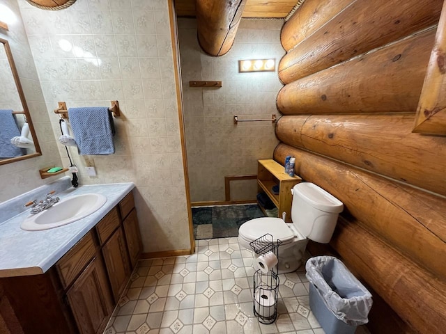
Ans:
{"label": "long wall log running directly behind the top of the toilet tank", "polygon": [[[276,161],[344,202],[345,209],[421,267],[446,278],[446,200],[346,164],[279,144]],[[440,180],[439,180],[440,182]],[[358,244],[359,245],[359,244]]]}

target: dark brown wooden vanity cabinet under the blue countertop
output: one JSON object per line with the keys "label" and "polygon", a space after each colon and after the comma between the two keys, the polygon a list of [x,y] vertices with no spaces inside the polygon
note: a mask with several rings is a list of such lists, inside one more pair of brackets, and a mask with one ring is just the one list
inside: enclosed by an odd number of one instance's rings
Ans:
{"label": "dark brown wooden vanity cabinet under the blue countertop", "polygon": [[[0,278],[0,297],[24,334],[101,334],[140,253],[130,192],[47,272]],[[17,328],[8,319],[0,308],[0,328]]]}

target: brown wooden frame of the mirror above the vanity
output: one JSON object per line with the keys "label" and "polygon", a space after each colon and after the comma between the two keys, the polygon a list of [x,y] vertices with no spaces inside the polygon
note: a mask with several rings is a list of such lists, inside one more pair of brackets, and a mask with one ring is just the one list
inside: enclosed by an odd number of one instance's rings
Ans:
{"label": "brown wooden frame of the mirror above the vanity", "polygon": [[42,155],[42,151],[40,150],[40,145],[37,140],[36,130],[34,129],[33,122],[31,121],[31,115],[29,114],[28,104],[26,104],[25,95],[23,93],[22,85],[20,84],[19,74],[17,73],[17,68],[15,67],[13,53],[11,52],[8,40],[3,40],[0,38],[0,43],[4,45],[6,51],[6,57],[8,58],[9,65],[11,67],[11,72],[13,73],[15,86],[17,87],[17,93],[19,93],[20,102],[22,102],[24,116],[26,118],[26,122],[29,125],[29,132],[31,133],[31,137],[33,138],[34,148],[36,148],[36,152],[31,154],[22,155],[21,157],[8,158],[0,160],[0,165],[9,164],[10,162],[21,161],[24,159],[30,159],[33,157],[39,157]]}

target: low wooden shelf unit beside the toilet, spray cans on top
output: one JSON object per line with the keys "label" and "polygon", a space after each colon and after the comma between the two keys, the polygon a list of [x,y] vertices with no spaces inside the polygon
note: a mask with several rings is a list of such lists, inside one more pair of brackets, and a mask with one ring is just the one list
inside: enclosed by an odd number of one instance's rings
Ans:
{"label": "low wooden shelf unit beside the toilet, spray cans on top", "polygon": [[[277,217],[282,217],[282,212],[286,212],[286,222],[291,222],[291,189],[295,184],[302,182],[298,176],[290,176],[285,173],[284,166],[272,159],[259,160],[257,170],[258,191],[264,191],[278,209]],[[272,192],[273,186],[279,186],[279,194]],[[261,207],[261,205],[260,205]],[[263,207],[262,211],[266,214]]]}

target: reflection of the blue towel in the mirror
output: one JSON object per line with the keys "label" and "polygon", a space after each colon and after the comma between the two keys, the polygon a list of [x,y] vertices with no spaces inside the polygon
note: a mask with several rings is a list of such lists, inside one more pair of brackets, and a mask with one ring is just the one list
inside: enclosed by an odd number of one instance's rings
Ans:
{"label": "reflection of the blue towel in the mirror", "polygon": [[11,144],[11,138],[20,136],[12,110],[0,109],[0,159],[21,157],[26,154],[22,148]]}

